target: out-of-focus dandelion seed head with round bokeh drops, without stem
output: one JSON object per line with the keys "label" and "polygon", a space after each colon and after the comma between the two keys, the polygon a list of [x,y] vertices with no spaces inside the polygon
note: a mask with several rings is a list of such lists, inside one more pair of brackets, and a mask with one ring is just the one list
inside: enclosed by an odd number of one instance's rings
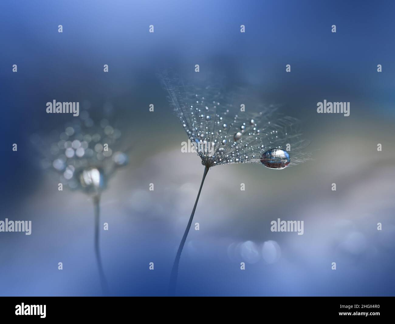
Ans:
{"label": "out-of-focus dandelion seed head with round bokeh drops, without stem", "polygon": [[121,132],[106,118],[95,122],[87,110],[49,136],[32,135],[44,159],[43,169],[55,169],[60,182],[89,195],[100,195],[113,173],[128,163],[120,149]]}

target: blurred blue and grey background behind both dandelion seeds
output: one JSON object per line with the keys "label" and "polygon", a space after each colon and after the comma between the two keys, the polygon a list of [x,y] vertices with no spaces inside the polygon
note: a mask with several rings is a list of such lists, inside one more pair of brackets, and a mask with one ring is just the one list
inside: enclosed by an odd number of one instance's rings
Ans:
{"label": "blurred blue and grey background behind both dandelion seeds", "polygon": [[[58,191],[58,176],[40,168],[31,142],[73,118],[46,114],[53,99],[98,116],[110,109],[132,146],[102,197],[110,294],[167,294],[204,168],[181,154],[187,136],[156,74],[172,68],[194,81],[199,64],[207,82],[225,76],[301,119],[313,160],[281,172],[213,168],[177,293],[393,296],[394,14],[392,1],[2,1],[0,220],[32,220],[32,234],[0,233],[0,295],[102,294],[92,201]],[[324,99],[349,101],[350,116],[317,114]],[[277,218],[304,220],[304,235],[272,233]]]}

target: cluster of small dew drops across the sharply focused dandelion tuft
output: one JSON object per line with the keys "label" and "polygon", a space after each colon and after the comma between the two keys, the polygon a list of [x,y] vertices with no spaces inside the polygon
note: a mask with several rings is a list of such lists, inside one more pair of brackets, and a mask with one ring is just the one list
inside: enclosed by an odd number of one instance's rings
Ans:
{"label": "cluster of small dew drops across the sharply focused dandelion tuft", "polygon": [[[221,113],[220,102],[213,101],[213,108],[209,108],[204,97],[200,100],[198,95],[195,97],[196,105],[191,104],[188,108],[181,109],[179,117],[191,142],[203,142],[206,145],[207,142],[213,143],[213,155],[198,152],[203,165],[259,163],[262,153],[275,147],[277,130],[259,129],[253,118],[245,122],[239,121],[237,114],[233,118],[229,115],[229,109],[224,109]],[[267,124],[269,127],[270,121]]]}

